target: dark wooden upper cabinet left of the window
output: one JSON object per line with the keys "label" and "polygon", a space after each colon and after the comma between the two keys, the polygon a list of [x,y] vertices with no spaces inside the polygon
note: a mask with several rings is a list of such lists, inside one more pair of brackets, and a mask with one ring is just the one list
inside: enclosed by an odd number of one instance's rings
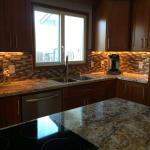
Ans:
{"label": "dark wooden upper cabinet left of the window", "polygon": [[0,20],[0,51],[32,51],[30,0],[1,0]]}

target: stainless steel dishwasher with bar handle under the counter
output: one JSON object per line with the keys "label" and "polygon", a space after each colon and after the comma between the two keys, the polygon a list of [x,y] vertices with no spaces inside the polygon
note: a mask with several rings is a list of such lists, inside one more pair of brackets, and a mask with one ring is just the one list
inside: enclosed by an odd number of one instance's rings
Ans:
{"label": "stainless steel dishwasher with bar handle under the counter", "polygon": [[22,96],[22,120],[28,121],[61,111],[61,90]]}

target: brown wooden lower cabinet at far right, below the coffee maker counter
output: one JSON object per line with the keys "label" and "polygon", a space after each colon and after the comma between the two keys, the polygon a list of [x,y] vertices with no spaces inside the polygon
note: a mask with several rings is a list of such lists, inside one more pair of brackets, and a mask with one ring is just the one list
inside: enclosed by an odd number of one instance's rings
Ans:
{"label": "brown wooden lower cabinet at far right, below the coffee maker counter", "polygon": [[116,95],[119,98],[145,104],[145,88],[146,85],[142,83],[118,80]]}

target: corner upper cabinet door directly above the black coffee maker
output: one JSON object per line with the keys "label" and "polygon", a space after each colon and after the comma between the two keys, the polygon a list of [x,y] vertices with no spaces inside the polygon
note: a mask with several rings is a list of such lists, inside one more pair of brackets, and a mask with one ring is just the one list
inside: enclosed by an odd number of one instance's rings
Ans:
{"label": "corner upper cabinet door directly above the black coffee maker", "polygon": [[130,2],[111,1],[107,20],[107,49],[129,50]]}

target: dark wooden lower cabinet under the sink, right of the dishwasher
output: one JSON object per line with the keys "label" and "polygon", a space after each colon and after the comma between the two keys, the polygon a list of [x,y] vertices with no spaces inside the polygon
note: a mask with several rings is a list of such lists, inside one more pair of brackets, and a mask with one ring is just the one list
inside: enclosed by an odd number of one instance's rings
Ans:
{"label": "dark wooden lower cabinet under the sink, right of the dishwasher", "polygon": [[63,110],[68,110],[115,97],[116,80],[64,88]]}

